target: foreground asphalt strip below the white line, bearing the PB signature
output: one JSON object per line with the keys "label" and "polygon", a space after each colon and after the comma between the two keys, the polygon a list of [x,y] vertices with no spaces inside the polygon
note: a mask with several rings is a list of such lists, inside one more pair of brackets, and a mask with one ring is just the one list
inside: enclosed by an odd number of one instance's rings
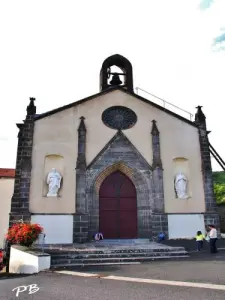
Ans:
{"label": "foreground asphalt strip below the white line, bearing the PB signature", "polygon": [[[37,284],[39,291],[31,295],[24,291],[16,298],[16,293],[12,292],[12,289],[29,284]],[[224,297],[225,291],[120,282],[51,273],[0,281],[1,300],[224,300]]]}

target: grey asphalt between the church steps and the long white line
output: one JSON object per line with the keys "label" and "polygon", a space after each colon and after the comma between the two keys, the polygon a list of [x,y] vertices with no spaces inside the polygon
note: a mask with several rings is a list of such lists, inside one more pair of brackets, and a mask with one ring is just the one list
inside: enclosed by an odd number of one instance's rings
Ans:
{"label": "grey asphalt between the church steps and the long white line", "polygon": [[[184,260],[153,261],[140,265],[70,268],[79,272],[225,285],[225,251],[196,252]],[[225,298],[225,297],[224,297]]]}

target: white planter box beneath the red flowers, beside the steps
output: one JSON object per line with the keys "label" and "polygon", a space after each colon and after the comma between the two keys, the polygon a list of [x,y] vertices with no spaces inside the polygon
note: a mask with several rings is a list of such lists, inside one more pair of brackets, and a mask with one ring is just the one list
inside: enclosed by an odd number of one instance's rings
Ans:
{"label": "white planter box beneath the red flowers, beside the steps", "polygon": [[9,272],[33,274],[50,268],[50,255],[36,256],[13,246],[10,251]]}

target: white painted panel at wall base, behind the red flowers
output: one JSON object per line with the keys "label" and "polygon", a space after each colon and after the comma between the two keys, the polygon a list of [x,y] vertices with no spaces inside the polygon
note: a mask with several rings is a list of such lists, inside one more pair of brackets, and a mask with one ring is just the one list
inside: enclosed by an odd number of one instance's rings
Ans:
{"label": "white painted panel at wall base, behind the red flowers", "polygon": [[38,223],[44,228],[46,244],[73,243],[72,215],[32,215],[31,223]]}

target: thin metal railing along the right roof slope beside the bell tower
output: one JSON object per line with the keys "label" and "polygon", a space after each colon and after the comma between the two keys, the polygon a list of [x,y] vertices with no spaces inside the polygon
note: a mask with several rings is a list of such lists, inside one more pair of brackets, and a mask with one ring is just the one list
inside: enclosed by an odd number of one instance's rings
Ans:
{"label": "thin metal railing along the right roof slope beside the bell tower", "polygon": [[[158,104],[158,105],[160,105],[160,106],[163,106],[164,108],[166,108],[166,109],[168,109],[168,110],[170,110],[170,111],[173,111],[174,113],[177,113],[177,114],[179,114],[179,115],[182,114],[182,116],[183,116],[184,118],[189,119],[190,121],[192,121],[192,119],[193,119],[193,114],[190,113],[189,111],[186,111],[186,110],[184,110],[184,109],[182,109],[182,108],[180,108],[180,107],[174,105],[173,103],[170,103],[170,102],[168,102],[168,101],[166,101],[166,100],[164,100],[164,99],[162,99],[162,98],[159,98],[159,97],[157,97],[157,96],[155,96],[155,95],[153,95],[153,94],[151,94],[151,93],[149,93],[149,92],[147,92],[147,91],[145,91],[145,90],[143,90],[143,89],[141,89],[141,88],[139,88],[139,87],[136,87],[135,90],[136,90],[137,95],[141,96],[141,95],[138,93],[138,91],[142,91],[142,92],[148,94],[149,96],[151,96],[151,99],[149,99],[150,101],[152,101],[152,102],[154,102],[154,103],[156,103],[156,104]],[[157,99],[157,100],[160,100],[160,103],[157,103],[157,102],[156,102],[156,99]],[[169,109],[168,106],[171,106],[172,109]],[[187,117],[187,115],[188,115],[188,117]]]}

